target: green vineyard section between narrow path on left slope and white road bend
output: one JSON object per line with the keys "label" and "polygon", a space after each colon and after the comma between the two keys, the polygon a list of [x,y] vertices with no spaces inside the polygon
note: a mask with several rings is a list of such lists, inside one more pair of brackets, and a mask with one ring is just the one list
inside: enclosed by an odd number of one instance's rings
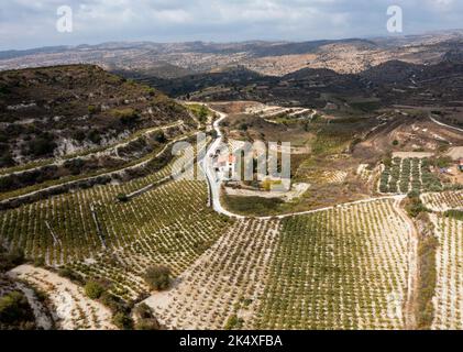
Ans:
{"label": "green vineyard section between narrow path on left slope and white road bend", "polygon": [[202,182],[174,182],[130,202],[97,209],[113,250],[68,267],[85,278],[110,282],[112,293],[123,299],[148,290],[143,275],[150,266],[168,266],[174,276],[183,273],[229,222],[207,208]]}

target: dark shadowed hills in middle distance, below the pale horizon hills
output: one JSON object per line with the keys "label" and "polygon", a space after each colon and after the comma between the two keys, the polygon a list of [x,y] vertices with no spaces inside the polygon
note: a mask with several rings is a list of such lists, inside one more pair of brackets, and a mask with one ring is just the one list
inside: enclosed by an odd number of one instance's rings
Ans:
{"label": "dark shadowed hills in middle distance, below the pale horizon hills", "polygon": [[175,79],[144,76],[141,81],[191,100],[256,100],[283,106],[361,111],[393,105],[461,106],[463,62],[459,52],[434,65],[389,61],[361,74],[306,67],[284,76],[258,75],[245,67]]}

